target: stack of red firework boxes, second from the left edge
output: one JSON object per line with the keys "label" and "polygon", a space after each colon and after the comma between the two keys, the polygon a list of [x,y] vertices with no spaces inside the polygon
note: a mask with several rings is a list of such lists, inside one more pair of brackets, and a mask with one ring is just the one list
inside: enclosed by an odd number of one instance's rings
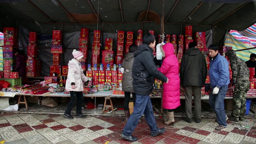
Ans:
{"label": "stack of red firework boxes, second from the left edge", "polygon": [[36,32],[29,32],[28,47],[27,47],[27,67],[26,76],[34,77],[41,75],[41,63],[38,60],[38,47],[36,45],[37,34]]}

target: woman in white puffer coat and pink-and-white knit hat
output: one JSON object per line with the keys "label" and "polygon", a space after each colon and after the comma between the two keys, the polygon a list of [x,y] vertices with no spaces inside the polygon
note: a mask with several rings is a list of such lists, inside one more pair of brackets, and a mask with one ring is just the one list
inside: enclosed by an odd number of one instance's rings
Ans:
{"label": "woman in white puffer coat and pink-and-white knit hat", "polygon": [[72,54],[74,58],[68,62],[68,78],[66,81],[66,91],[70,92],[70,101],[64,113],[64,117],[73,119],[71,110],[76,100],[76,118],[86,118],[85,115],[82,115],[82,105],[84,102],[83,84],[88,81],[88,78],[84,75],[80,64],[84,54],[76,50],[73,50]]}

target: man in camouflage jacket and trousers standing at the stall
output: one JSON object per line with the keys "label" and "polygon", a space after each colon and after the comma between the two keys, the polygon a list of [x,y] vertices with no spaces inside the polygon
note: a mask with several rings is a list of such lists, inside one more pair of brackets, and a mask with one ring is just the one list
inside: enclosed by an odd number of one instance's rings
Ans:
{"label": "man in camouflage jacket and trousers standing at the stall", "polygon": [[238,122],[239,120],[243,121],[246,112],[246,95],[250,88],[250,71],[244,60],[236,56],[234,50],[229,50],[226,53],[226,56],[228,56],[228,59],[230,60],[232,69],[232,86],[235,86],[235,91],[233,93],[234,110],[229,120],[234,122]]}

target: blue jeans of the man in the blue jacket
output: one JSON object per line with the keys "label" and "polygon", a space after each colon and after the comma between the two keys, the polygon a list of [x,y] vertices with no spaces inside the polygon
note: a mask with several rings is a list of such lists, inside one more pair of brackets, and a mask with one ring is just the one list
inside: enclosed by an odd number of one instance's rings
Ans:
{"label": "blue jeans of the man in the blue jacket", "polygon": [[209,104],[216,113],[218,124],[227,127],[224,99],[228,91],[228,86],[222,86],[218,94],[212,94],[212,90],[210,91]]}

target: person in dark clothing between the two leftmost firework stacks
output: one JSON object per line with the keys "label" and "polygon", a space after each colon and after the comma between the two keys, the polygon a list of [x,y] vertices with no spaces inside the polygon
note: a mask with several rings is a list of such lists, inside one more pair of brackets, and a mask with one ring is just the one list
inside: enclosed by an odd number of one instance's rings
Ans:
{"label": "person in dark clothing between the two leftmost firework stacks", "polygon": [[16,56],[16,72],[19,73],[19,77],[26,79],[26,56],[20,49],[14,51]]}

